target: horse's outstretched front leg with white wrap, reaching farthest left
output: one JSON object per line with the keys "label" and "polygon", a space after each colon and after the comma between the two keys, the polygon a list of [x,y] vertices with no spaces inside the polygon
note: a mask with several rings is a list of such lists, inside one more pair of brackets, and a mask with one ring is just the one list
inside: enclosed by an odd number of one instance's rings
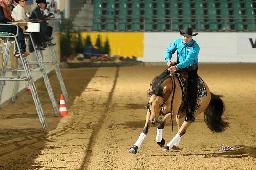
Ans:
{"label": "horse's outstretched front leg with white wrap, reaching farthest left", "polygon": [[130,148],[130,150],[128,152],[130,153],[133,153],[133,154],[136,154],[137,153],[137,150],[138,148],[140,147],[140,145],[142,144],[144,138],[146,137],[147,133],[148,133],[148,129],[151,127],[151,123],[149,122],[149,118],[150,118],[150,112],[149,112],[149,109],[148,109],[148,112],[147,112],[147,116],[146,116],[146,123],[145,123],[145,126],[138,138],[138,140],[135,142],[135,144]]}

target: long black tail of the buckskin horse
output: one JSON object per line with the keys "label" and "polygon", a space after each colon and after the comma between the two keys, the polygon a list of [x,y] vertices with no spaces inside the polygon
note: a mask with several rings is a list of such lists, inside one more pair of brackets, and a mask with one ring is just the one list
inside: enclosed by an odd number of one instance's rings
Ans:
{"label": "long black tail of the buckskin horse", "polygon": [[211,93],[210,103],[204,110],[204,122],[213,133],[224,132],[229,128],[228,122],[221,119],[225,110],[225,105],[220,97],[221,95]]}

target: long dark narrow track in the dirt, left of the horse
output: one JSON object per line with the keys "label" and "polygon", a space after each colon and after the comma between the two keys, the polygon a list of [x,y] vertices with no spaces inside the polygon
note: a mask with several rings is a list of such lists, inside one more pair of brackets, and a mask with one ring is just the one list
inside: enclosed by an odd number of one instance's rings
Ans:
{"label": "long dark narrow track in the dirt, left of the horse", "polygon": [[87,168],[88,168],[88,167],[87,167],[87,163],[88,163],[88,161],[90,161],[90,158],[91,158],[91,156],[92,156],[92,150],[91,150],[91,148],[92,148],[93,143],[95,142],[94,139],[97,137],[97,135],[98,135],[98,133],[99,133],[99,130],[102,128],[102,125],[103,125],[104,120],[105,120],[105,118],[106,118],[106,113],[108,113],[107,111],[108,111],[108,109],[109,109],[109,103],[110,103],[111,100],[112,100],[113,92],[114,92],[114,89],[115,89],[115,87],[116,87],[116,81],[117,81],[117,78],[118,78],[118,73],[119,73],[119,67],[117,67],[117,69],[116,69],[115,79],[114,79],[114,82],[113,82],[112,89],[111,89],[111,91],[110,91],[110,93],[109,93],[108,99],[107,99],[107,101],[104,103],[105,105],[102,105],[102,106],[104,106],[104,108],[103,108],[102,111],[100,112],[101,115],[100,115],[100,117],[99,117],[99,119],[98,119],[98,121],[97,121],[97,122],[99,122],[99,123],[94,124],[93,127],[92,127],[92,134],[91,134],[91,136],[90,136],[90,138],[89,138],[89,143],[88,143],[88,145],[87,145],[87,150],[86,150],[86,152],[85,152],[84,162],[83,162],[83,164],[82,164],[82,166],[81,166],[81,169],[87,169]]}

